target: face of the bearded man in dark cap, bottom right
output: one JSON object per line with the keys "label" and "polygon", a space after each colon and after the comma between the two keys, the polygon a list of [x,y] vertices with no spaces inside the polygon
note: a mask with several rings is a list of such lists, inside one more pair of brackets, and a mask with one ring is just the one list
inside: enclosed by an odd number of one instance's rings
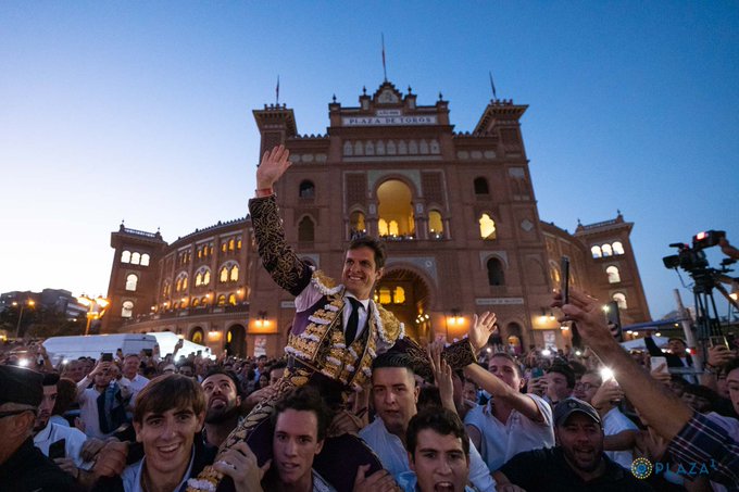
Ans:
{"label": "face of the bearded man in dark cap, bottom right", "polygon": [[575,413],[556,427],[556,437],[571,467],[594,471],[603,458],[603,430],[581,413]]}

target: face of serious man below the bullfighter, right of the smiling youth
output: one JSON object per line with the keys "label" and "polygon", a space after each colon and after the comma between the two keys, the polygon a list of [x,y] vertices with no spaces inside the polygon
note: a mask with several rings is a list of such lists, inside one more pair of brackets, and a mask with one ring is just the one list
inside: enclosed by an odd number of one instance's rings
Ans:
{"label": "face of serious man below the bullfighter, right of the smiling youth", "polygon": [[281,412],[275,424],[272,447],[280,482],[289,485],[310,479],[313,459],[323,449],[316,415],[293,408]]}

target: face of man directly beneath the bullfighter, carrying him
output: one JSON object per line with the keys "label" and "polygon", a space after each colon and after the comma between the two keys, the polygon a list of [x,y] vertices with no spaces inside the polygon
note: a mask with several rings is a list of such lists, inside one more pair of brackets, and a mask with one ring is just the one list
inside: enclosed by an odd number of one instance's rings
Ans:
{"label": "face of man directly beneath the bullfighter, carrying him", "polygon": [[372,400],[388,431],[404,436],[418,401],[418,388],[411,371],[404,367],[373,370]]}

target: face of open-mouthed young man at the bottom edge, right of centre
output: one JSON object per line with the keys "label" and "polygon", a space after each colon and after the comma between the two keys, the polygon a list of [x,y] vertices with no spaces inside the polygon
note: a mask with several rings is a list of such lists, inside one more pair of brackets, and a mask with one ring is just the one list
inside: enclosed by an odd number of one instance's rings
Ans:
{"label": "face of open-mouthed young man at the bottom edge, right of centre", "polygon": [[469,458],[464,454],[460,438],[423,429],[416,437],[413,455],[409,457],[421,492],[464,491],[469,476]]}

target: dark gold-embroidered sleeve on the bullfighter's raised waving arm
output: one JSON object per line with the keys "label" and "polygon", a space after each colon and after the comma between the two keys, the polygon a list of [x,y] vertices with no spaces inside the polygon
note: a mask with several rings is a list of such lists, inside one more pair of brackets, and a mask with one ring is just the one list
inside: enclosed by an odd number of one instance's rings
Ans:
{"label": "dark gold-embroidered sleeve on the bullfighter's raised waving arm", "polygon": [[292,295],[300,294],[311,281],[312,270],[285,242],[283,219],[274,194],[249,200],[249,213],[264,268],[279,287]]}

